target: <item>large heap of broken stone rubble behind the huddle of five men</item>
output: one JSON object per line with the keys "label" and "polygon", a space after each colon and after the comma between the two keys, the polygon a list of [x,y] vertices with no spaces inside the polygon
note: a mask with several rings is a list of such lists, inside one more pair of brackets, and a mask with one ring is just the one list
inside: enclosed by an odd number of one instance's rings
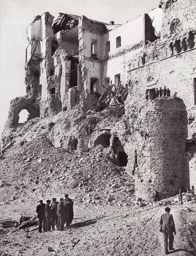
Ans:
{"label": "large heap of broken stone rubble behind the huddle of five men", "polygon": [[100,145],[82,152],[54,148],[43,134],[5,152],[2,175],[8,171],[10,175],[0,184],[5,188],[1,204],[50,194],[58,197],[65,192],[80,203],[130,204],[134,201],[134,180],[102,151]]}

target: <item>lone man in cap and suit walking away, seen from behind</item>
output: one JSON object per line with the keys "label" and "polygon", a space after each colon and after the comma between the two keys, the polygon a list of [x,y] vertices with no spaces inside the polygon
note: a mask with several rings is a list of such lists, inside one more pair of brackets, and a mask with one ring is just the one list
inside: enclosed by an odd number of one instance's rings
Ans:
{"label": "lone man in cap and suit walking away, seen from behind", "polygon": [[[170,208],[165,208],[165,213],[162,214],[160,219],[160,224],[162,225],[163,230],[163,241],[164,241],[164,248],[165,248],[165,254],[169,254],[168,251],[168,238],[169,238],[169,250],[174,250],[173,248],[173,241],[174,241],[174,235],[176,235],[176,229],[174,224],[174,219],[172,214],[170,214]],[[174,232],[174,235],[173,235]]]}

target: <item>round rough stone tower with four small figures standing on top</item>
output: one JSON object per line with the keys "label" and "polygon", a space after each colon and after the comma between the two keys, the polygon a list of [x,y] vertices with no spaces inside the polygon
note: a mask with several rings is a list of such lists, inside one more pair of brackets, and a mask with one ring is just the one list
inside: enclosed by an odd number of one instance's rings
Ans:
{"label": "round rough stone tower with four small figures standing on top", "polygon": [[189,186],[185,156],[187,112],[183,101],[162,98],[149,102],[135,126],[136,197],[153,200],[157,191],[163,199]]}

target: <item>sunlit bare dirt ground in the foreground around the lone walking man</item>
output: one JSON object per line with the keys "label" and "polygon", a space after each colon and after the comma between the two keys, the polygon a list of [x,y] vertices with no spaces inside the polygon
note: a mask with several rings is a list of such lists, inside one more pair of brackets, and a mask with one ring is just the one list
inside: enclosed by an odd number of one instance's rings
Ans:
{"label": "sunlit bare dirt ground in the foreground around the lone walking man", "polygon": [[[181,210],[187,210],[187,207],[191,209],[190,212]],[[57,249],[58,256],[164,256],[163,235],[158,231],[164,208],[146,210],[130,206],[76,203],[70,229],[41,234],[34,230],[29,233],[30,238],[27,238],[24,230],[19,230],[4,238],[9,243],[2,249],[13,256],[53,255],[55,252],[47,252],[47,247]],[[189,222],[196,218],[196,206],[172,205],[171,209],[177,232],[174,238],[175,250],[171,251],[171,255],[196,255],[186,233],[186,228],[191,225]],[[80,241],[72,246],[71,240],[74,238]]]}

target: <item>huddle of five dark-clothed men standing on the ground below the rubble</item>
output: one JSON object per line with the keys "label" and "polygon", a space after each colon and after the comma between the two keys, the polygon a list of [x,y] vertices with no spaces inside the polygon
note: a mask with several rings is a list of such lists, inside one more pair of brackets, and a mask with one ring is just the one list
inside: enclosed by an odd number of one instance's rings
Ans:
{"label": "huddle of five dark-clothed men standing on the ground below the rubble", "polygon": [[62,231],[64,224],[70,226],[73,220],[73,201],[69,198],[68,194],[65,194],[65,199],[60,198],[60,202],[56,201],[56,198],[46,200],[46,204],[43,200],[40,200],[40,204],[37,205],[36,212],[39,218],[39,232],[42,232],[42,223],[44,223],[44,232],[55,230]]}

